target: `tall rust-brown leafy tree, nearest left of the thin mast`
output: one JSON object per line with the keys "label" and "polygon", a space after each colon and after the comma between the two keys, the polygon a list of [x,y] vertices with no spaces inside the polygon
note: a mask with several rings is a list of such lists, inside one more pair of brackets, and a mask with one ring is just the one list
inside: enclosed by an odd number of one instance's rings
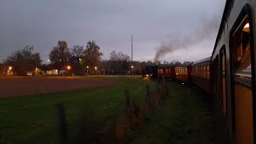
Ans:
{"label": "tall rust-brown leafy tree, nearest left of the thin mast", "polygon": [[99,66],[102,55],[99,46],[94,41],[87,42],[83,58],[86,66],[90,66],[90,69],[93,69],[94,66]]}

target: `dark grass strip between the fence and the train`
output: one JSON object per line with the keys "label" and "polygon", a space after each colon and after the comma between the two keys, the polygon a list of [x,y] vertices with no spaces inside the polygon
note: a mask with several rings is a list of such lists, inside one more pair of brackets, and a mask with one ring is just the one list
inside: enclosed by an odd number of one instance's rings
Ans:
{"label": "dark grass strip between the fence and the train", "polygon": [[217,143],[210,96],[177,83],[169,88],[169,97],[125,143]]}

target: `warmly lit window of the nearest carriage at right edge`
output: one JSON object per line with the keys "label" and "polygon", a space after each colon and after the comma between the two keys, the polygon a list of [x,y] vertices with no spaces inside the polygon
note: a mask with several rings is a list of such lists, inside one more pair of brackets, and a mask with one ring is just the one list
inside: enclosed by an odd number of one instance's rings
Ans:
{"label": "warmly lit window of the nearest carriage at right edge", "polygon": [[248,22],[248,19],[242,22],[232,38],[234,73],[236,77],[244,80],[251,80],[250,25]]}

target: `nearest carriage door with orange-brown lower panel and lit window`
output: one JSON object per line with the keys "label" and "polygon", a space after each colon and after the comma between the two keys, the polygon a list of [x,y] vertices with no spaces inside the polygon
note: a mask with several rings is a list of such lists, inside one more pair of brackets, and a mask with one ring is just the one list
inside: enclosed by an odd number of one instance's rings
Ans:
{"label": "nearest carriage door with orange-brown lower panel and lit window", "polygon": [[252,59],[252,30],[246,16],[242,18],[231,33],[230,54],[233,74],[232,98],[234,109],[234,134],[237,143],[254,143],[253,125],[253,92]]}

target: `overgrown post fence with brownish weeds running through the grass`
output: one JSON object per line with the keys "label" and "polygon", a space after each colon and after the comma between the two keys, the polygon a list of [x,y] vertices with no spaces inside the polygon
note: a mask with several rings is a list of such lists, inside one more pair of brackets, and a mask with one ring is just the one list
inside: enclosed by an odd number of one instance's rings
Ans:
{"label": "overgrown post fence with brownish weeds running through the grass", "polygon": [[[70,142],[67,134],[67,122],[65,108],[63,104],[58,104],[58,122],[59,122],[59,141],[61,144],[67,143],[113,143],[120,142],[126,138],[132,130],[141,126],[146,117],[158,106],[160,102],[168,95],[169,91],[166,82],[158,82],[155,87],[146,86],[146,97],[139,104],[134,102],[130,97],[130,90],[125,90],[125,109],[123,113],[115,120],[113,126],[103,129],[98,126],[99,130],[90,130],[86,132],[85,129],[90,129],[91,126],[84,126],[82,124],[79,131],[79,136],[76,142]],[[86,125],[93,123],[86,122]],[[88,130],[87,130],[88,131]],[[86,136],[90,134],[93,136]]]}

